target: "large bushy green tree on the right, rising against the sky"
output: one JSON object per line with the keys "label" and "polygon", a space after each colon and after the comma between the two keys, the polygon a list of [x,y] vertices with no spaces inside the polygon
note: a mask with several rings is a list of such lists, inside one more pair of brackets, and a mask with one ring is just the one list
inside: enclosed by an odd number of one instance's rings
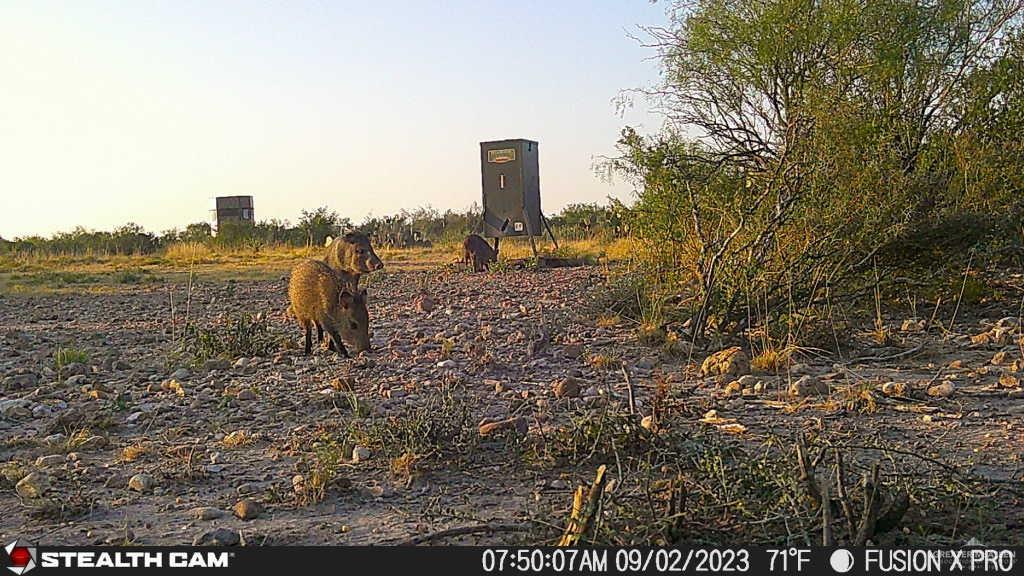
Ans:
{"label": "large bushy green tree on the right, rising against the sky", "polygon": [[965,166],[1017,186],[990,142],[993,118],[1020,118],[1022,6],[680,1],[647,31],[663,81],[641,92],[666,128],[624,130],[611,168],[637,188],[660,273],[695,281],[697,336],[811,302],[921,222],[977,207]]}

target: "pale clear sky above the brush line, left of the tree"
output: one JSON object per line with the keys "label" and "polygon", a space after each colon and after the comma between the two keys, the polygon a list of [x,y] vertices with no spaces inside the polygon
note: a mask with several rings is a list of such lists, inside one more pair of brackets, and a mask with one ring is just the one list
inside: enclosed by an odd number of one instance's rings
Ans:
{"label": "pale clear sky above the brush line, left of the tree", "polygon": [[541,143],[546,212],[630,196],[593,171],[652,84],[648,0],[0,1],[0,237],[480,199],[481,140]]}

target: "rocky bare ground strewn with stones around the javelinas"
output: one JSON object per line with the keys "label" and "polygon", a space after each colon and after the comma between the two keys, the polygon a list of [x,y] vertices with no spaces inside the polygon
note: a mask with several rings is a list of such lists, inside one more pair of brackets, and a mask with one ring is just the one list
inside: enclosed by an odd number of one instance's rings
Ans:
{"label": "rocky bare ground strewn with stones around the javelinas", "polygon": [[[301,355],[284,276],[199,278],[190,298],[161,283],[0,295],[0,541],[550,543],[601,463],[601,530],[633,533],[631,506],[612,501],[643,501],[626,477],[653,452],[626,454],[634,438],[660,450],[643,469],[665,472],[676,465],[666,454],[685,459],[677,441],[782,458],[802,433],[853,463],[881,460],[885,482],[912,490],[895,536],[877,538],[1024,543],[1019,278],[1005,301],[959,311],[951,331],[891,318],[884,344],[851,331],[837,335],[844,358],[805,351],[767,370],[745,345],[705,362],[680,342],[642,344],[627,321],[595,323],[598,268],[370,280],[375,349],[354,359]],[[186,318],[218,326],[240,312],[265,317],[265,354],[182,351]],[[608,420],[609,407],[624,419]],[[626,422],[628,446],[581,424],[605,421]],[[817,454],[828,478],[830,452]],[[697,500],[685,540],[728,534],[742,517]],[[781,531],[761,541],[820,532],[776,516],[744,526]],[[602,541],[631,538],[647,536]]]}

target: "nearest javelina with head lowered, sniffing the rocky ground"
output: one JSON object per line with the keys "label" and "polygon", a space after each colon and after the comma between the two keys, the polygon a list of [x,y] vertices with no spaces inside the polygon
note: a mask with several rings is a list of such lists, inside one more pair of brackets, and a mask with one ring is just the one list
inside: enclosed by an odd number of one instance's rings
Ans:
{"label": "nearest javelina with head lowered, sniffing the rocky ground", "polygon": [[331,349],[348,356],[348,340],[355,352],[370,349],[370,314],[367,312],[367,291],[352,292],[345,288],[338,275],[319,260],[303,260],[292,270],[288,283],[289,313],[305,330],[305,354],[311,352],[312,328],[317,340],[327,332]]}

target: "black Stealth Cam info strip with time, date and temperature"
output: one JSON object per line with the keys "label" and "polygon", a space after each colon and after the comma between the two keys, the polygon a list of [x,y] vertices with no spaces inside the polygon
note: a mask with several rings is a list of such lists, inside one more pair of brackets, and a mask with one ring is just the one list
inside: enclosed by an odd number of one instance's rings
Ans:
{"label": "black Stealth Cam info strip with time, date and temperature", "polygon": [[3,572],[250,574],[1010,574],[1024,576],[1021,547],[482,547],[482,546],[48,546],[15,540]]}

